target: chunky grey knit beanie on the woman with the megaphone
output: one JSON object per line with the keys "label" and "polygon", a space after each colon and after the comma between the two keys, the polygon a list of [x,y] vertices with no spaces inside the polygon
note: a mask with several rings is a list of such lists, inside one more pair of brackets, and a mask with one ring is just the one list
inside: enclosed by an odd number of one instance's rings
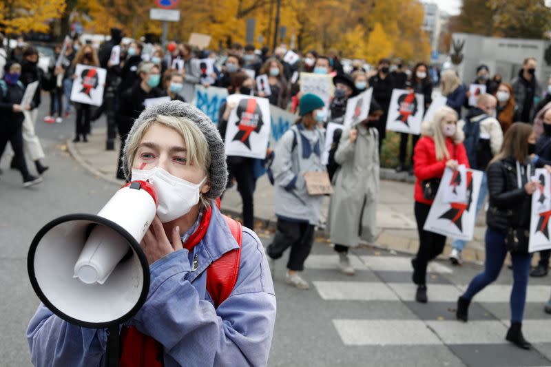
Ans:
{"label": "chunky grey knit beanie on the woman with the megaphone", "polygon": [[224,141],[220,137],[218,129],[216,129],[216,126],[214,126],[207,115],[203,114],[193,105],[182,101],[169,101],[147,107],[140,116],[138,116],[136,121],[134,121],[134,125],[132,125],[132,129],[130,129],[126,138],[126,145],[123,151],[123,170],[127,180],[130,180],[132,174],[132,172],[128,171],[127,164],[129,139],[136,133],[138,126],[158,115],[183,117],[197,124],[202,134],[205,135],[207,139],[211,154],[211,166],[207,167],[211,189],[209,192],[205,193],[205,198],[214,200],[222,195],[222,192],[226,189],[228,176]]}

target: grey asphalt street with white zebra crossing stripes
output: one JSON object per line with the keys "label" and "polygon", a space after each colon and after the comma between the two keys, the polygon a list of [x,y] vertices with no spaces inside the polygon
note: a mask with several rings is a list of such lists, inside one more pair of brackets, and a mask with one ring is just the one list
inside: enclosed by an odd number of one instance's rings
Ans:
{"label": "grey asphalt street with white zebra crossing stripes", "polygon": [[[35,233],[67,213],[96,213],[118,189],[67,154],[74,115],[61,124],[43,123],[44,97],[37,122],[50,165],[44,182],[23,189],[19,172],[9,168],[9,157],[0,161],[0,366],[31,366],[25,329],[39,300],[25,260]],[[105,122],[92,128],[96,125]],[[260,235],[269,244],[269,236]],[[530,278],[523,331],[535,348],[525,351],[505,340],[512,283],[506,266],[497,282],[475,297],[470,321],[462,324],[455,321],[455,302],[481,266],[453,268],[434,262],[429,267],[429,303],[418,304],[410,257],[395,251],[354,250],[357,271],[349,277],[337,271],[337,255],[320,239],[306,261],[309,291],[284,284],[286,261],[287,254],[273,275],[278,317],[269,366],[551,365],[551,316],[543,313],[549,277]]]}

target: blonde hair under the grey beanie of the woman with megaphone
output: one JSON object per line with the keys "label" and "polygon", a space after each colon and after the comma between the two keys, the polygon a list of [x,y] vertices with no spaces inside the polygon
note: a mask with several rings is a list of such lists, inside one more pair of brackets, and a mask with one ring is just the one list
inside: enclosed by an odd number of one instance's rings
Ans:
{"label": "blonde hair under the grey beanie of the woman with megaphone", "polygon": [[[143,124],[138,126],[136,132],[129,136],[125,147],[128,157],[126,164],[129,172],[132,172],[132,163],[134,162],[136,151],[138,151],[138,147],[145,132],[147,132],[147,129],[154,123],[174,129],[174,131],[180,134],[184,139],[185,148],[187,150],[188,164],[198,165],[198,167],[208,176],[209,167],[211,165],[211,153],[205,135],[202,134],[197,124],[193,121],[183,117],[165,115],[157,115],[154,118],[145,120]],[[209,177],[207,177],[207,184],[210,185]],[[200,202],[202,207],[209,207],[209,200],[203,198],[202,195],[200,196]]]}

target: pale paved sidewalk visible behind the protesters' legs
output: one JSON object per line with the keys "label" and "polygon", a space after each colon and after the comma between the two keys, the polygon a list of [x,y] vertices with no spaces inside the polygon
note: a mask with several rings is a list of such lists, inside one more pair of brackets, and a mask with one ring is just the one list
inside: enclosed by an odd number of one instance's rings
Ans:
{"label": "pale paved sidewalk visible behind the protesters' legs", "polygon": [[[79,164],[95,176],[122,185],[123,181],[115,178],[118,140],[115,150],[106,151],[105,134],[105,128],[98,127],[88,136],[89,143],[72,143],[72,140],[67,140],[67,149]],[[413,214],[413,185],[410,182],[396,181],[406,178],[404,174],[395,174],[392,170],[382,171],[383,178],[393,180],[381,180],[381,196],[377,210],[377,227],[380,233],[374,245],[402,253],[416,253],[419,242]],[[257,230],[258,227],[273,229],[276,220],[273,213],[273,187],[265,175],[257,182],[254,203]],[[328,209],[329,198],[326,198],[322,206],[322,218],[326,218]],[[224,194],[222,210],[240,215],[241,198],[235,187]],[[475,228],[475,239],[464,249],[463,258],[466,262],[480,264],[484,262],[484,218],[478,218],[477,224],[481,225]],[[329,239],[324,240],[329,242]],[[448,240],[444,258],[447,258],[450,249]]]}

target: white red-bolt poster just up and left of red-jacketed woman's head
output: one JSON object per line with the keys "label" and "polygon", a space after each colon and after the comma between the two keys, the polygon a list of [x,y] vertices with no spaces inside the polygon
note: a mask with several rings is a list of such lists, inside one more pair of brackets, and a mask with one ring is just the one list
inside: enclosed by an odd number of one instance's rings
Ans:
{"label": "white red-bolt poster just up and left of red-jacketed woman's head", "polygon": [[386,129],[419,135],[424,112],[423,94],[393,90],[391,105],[388,107]]}

